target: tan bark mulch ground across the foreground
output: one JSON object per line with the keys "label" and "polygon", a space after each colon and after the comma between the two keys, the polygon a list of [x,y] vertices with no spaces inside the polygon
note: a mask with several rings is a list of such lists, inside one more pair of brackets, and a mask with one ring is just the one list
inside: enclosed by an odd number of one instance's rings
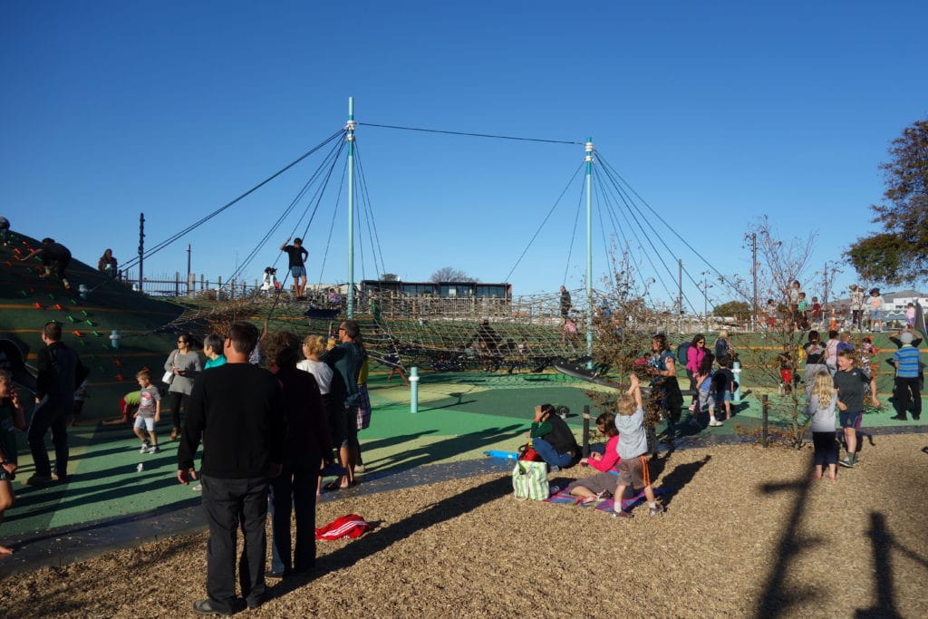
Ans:
{"label": "tan bark mulch ground across the foreground", "polygon": [[[248,617],[924,617],[924,435],[877,436],[854,470],[811,481],[811,450],[724,445],[654,462],[667,512],[621,522],[520,502],[497,474],[327,501],[378,528],[319,542],[313,578]],[[655,472],[657,472],[655,471]],[[581,476],[561,473],[555,479]],[[190,616],[206,535],[7,578],[7,617]]]}

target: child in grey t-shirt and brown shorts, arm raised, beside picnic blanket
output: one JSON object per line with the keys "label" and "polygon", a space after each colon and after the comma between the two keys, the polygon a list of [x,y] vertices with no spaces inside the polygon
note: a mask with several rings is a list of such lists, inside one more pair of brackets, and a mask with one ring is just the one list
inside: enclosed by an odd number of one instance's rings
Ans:
{"label": "child in grey t-shirt and brown shorts, arm raised, beside picnic blanket", "polygon": [[622,496],[625,487],[644,486],[644,496],[648,499],[648,515],[664,513],[664,506],[654,500],[651,487],[651,473],[648,471],[648,439],[644,431],[644,409],[641,407],[641,389],[638,377],[631,375],[631,386],[616,402],[615,429],[619,431],[619,482],[615,486],[616,496],[613,518],[632,518],[630,511],[622,509]]}

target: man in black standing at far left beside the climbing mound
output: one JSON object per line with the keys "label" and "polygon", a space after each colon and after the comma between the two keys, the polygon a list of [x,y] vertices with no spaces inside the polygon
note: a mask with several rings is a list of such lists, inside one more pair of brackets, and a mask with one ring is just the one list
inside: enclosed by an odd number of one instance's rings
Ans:
{"label": "man in black standing at far left beside the climbing mound", "polygon": [[61,343],[61,324],[52,320],[42,328],[45,348],[38,352],[35,379],[35,409],[27,441],[35,463],[35,474],[26,484],[43,485],[52,481],[52,467],[45,446],[45,434],[52,430],[55,445],[55,474],[59,482],[68,481],[68,417],[74,406],[74,390],[87,378],[87,368],[70,348]]}

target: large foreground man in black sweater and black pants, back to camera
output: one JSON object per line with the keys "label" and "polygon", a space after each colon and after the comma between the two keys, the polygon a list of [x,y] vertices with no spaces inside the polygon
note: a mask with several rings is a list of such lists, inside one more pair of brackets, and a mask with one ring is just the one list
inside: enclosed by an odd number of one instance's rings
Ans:
{"label": "large foreground man in black sweater and black pants, back to camera", "polygon": [[[258,329],[237,322],[223,342],[226,365],[203,372],[193,383],[180,447],[177,481],[196,479],[193,457],[203,441],[203,509],[210,527],[206,548],[208,598],[193,602],[200,614],[235,612],[235,551],[238,527],[245,535],[238,581],[249,608],[264,600],[267,487],[280,473],[285,423],[280,384],[269,371],[248,363]],[[239,522],[240,521],[240,522]]]}

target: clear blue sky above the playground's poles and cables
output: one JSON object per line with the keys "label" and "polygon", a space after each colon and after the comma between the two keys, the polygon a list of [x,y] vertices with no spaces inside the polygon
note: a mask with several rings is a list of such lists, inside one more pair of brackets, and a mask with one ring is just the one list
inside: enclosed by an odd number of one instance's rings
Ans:
{"label": "clear blue sky above the playground's poles and cables", "polygon": [[[810,280],[874,229],[877,166],[928,113],[928,4],[755,4],[2,3],[0,214],[84,262],[111,247],[124,263],[140,212],[151,247],[338,131],[353,96],[359,123],[592,136],[723,273],[747,276],[741,238],[758,216],[784,238],[818,231]],[[582,285],[581,230],[568,259],[582,188],[568,181],[582,146],[366,126],[357,144],[384,264],[365,232],[356,279],[385,270],[425,280],[450,265],[500,281],[568,187],[509,281],[516,294],[557,290],[565,272],[569,288]],[[321,163],[304,161],[151,256],[146,273],[184,272],[190,243],[193,271],[225,278]],[[347,277],[343,191],[338,200],[333,239],[332,190],[306,234],[313,283]],[[309,201],[249,279],[303,233]],[[679,255],[699,278],[705,265],[651,224],[665,259]],[[594,239],[599,286],[599,226]],[[652,260],[661,281],[651,294],[667,301],[676,282]],[[846,267],[839,283],[854,279]],[[701,310],[701,293],[685,289]],[[715,302],[731,296],[710,290]]]}

